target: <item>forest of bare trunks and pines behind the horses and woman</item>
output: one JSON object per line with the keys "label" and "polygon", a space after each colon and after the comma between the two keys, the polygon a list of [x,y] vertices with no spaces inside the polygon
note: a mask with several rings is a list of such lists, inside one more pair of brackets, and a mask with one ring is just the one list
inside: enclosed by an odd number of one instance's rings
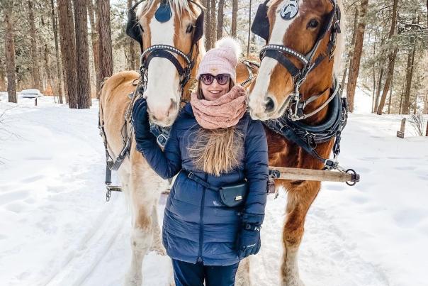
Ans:
{"label": "forest of bare trunks and pines behind the horses and woman", "polygon": [[[260,2],[201,1],[205,48],[231,35],[242,43],[242,57],[258,60],[264,40],[249,26]],[[0,92],[16,102],[17,91],[35,88],[59,104],[89,108],[103,78],[139,66],[139,46],[125,35],[133,4],[1,0]],[[428,0],[344,0],[347,49],[337,76],[351,112],[359,88],[370,94],[373,113],[428,114],[427,7]]]}

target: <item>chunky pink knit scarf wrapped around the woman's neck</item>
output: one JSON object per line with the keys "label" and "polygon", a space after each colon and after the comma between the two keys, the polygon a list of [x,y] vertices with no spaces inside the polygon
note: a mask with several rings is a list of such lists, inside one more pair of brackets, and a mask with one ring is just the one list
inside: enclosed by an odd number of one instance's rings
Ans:
{"label": "chunky pink knit scarf wrapped around the woman's neck", "polygon": [[215,100],[198,99],[191,94],[190,104],[199,125],[205,129],[218,129],[235,126],[247,110],[247,93],[240,85]]}

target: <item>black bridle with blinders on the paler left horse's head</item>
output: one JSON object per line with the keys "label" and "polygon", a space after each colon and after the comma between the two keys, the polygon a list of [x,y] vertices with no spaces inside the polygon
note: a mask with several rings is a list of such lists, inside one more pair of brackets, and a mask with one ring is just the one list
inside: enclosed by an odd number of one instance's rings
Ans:
{"label": "black bridle with blinders on the paler left horse's head", "polygon": [[[181,92],[183,92],[184,86],[188,82],[188,79],[190,79],[191,70],[195,65],[195,60],[192,58],[193,47],[195,45],[198,45],[198,41],[201,40],[203,36],[203,16],[204,16],[203,7],[200,4],[196,3],[195,1],[188,0],[188,2],[195,4],[196,6],[198,6],[199,9],[201,9],[201,13],[199,14],[198,18],[196,18],[194,32],[193,32],[193,40],[191,44],[191,50],[189,51],[189,53],[186,54],[183,51],[171,45],[151,45],[145,50],[143,46],[143,41],[142,41],[142,35],[144,31],[142,30],[141,24],[139,23],[137,19],[137,15],[135,13],[135,8],[138,5],[140,5],[143,1],[145,0],[138,1],[137,3],[135,3],[134,6],[131,7],[131,9],[129,9],[128,23],[126,24],[126,34],[140,44],[140,50],[141,50],[140,74],[141,74],[142,80],[147,79],[147,70],[149,67],[150,60],[152,60],[154,57],[163,57],[169,60],[174,65],[174,67],[176,67],[177,72],[179,72],[179,75],[181,78],[181,81],[180,81]],[[157,19],[157,21],[161,23],[169,21],[169,19],[172,16],[172,13],[171,13],[171,7],[169,6],[169,2],[167,0],[162,0],[154,16]],[[177,60],[174,54],[184,59],[184,61],[186,62],[185,67],[181,66],[179,60]]]}

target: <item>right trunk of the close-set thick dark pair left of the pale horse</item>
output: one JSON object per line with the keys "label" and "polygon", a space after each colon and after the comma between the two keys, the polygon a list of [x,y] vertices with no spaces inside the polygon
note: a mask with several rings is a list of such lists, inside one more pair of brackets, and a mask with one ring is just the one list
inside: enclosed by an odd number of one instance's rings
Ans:
{"label": "right trunk of the close-set thick dark pair left of the pale horse", "polygon": [[86,0],[74,0],[74,17],[76,24],[77,67],[77,108],[89,109],[91,106],[91,86],[89,85],[89,43],[88,11]]}

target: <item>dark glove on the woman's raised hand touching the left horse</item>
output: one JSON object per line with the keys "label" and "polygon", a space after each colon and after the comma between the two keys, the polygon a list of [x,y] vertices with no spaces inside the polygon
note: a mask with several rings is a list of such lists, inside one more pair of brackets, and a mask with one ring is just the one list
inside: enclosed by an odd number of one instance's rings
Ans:
{"label": "dark glove on the woman's raised hand touching the left horse", "polygon": [[133,106],[133,126],[135,141],[144,141],[150,138],[149,114],[147,114],[147,101],[140,97]]}

